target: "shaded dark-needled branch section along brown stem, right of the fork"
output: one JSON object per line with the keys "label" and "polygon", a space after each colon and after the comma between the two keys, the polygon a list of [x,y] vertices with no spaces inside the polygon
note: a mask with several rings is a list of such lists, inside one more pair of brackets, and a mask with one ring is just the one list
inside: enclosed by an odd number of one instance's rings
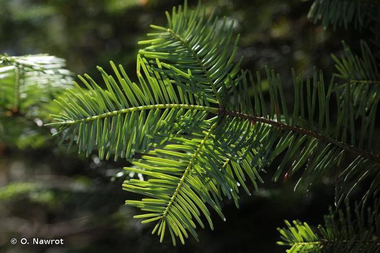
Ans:
{"label": "shaded dark-needled branch section along brown stem, right of the fork", "polygon": [[[255,124],[252,136],[260,140],[258,147],[255,147],[261,159],[260,167],[284,154],[273,179],[278,181],[284,174],[285,179],[295,175],[299,177],[295,188],[304,181],[311,185],[331,169],[332,174],[337,173],[337,204],[350,195],[366,177],[372,178],[373,183],[363,198],[366,201],[380,183],[377,177],[379,158],[376,141],[379,130],[375,124],[378,96],[368,113],[365,110],[358,113],[361,131],[357,132],[352,103],[354,90],[349,83],[339,89],[333,79],[328,84],[325,83],[322,73],[317,73],[316,70],[313,77],[307,76],[304,82],[302,74],[297,76],[293,70],[295,99],[293,109],[289,110],[285,106],[280,76],[268,68],[266,72],[270,93],[269,107],[262,99],[264,96],[260,90],[262,80],[259,73],[256,83],[250,75],[255,98],[254,113],[245,112],[249,111],[244,109],[250,108],[249,100],[240,99],[241,104],[236,104],[238,97],[233,97],[235,103],[227,104],[226,107],[227,115],[244,118]],[[238,85],[244,87],[244,79]],[[246,93],[247,90],[244,89],[237,92],[239,96]],[[331,106],[333,100],[337,104],[335,109]],[[364,101],[361,100],[361,103]],[[236,126],[233,128],[239,133]],[[242,145],[242,141],[237,143],[236,145]],[[245,143],[245,147],[254,145],[253,143],[252,139]],[[288,162],[291,162],[290,167]],[[286,167],[288,168],[284,172]],[[303,175],[298,173],[302,170]]]}

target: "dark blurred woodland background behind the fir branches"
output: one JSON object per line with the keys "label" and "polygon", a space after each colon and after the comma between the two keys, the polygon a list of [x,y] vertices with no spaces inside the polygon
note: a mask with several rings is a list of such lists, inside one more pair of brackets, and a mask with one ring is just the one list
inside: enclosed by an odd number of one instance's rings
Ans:
{"label": "dark blurred woodland background behind the fir branches", "polygon": [[[75,74],[100,80],[96,66],[110,70],[109,60],[135,77],[137,41],[149,24],[166,26],[164,12],[182,1],[167,0],[0,0],[0,53],[48,53],[66,59]],[[323,30],[307,18],[312,2],[299,0],[203,1],[207,11],[235,19],[241,34],[238,55],[243,68],[262,71],[269,65],[284,78],[290,99],[290,68],[304,72],[317,66],[329,78],[331,53],[341,40],[355,51],[365,31]],[[197,1],[189,1],[195,7]],[[151,227],[133,219],[138,210],[124,205],[122,182],[127,162],[99,161],[96,153],[78,155],[67,143],[57,146],[40,118],[0,117],[0,252],[282,252],[277,227],[284,219],[311,225],[323,221],[333,204],[333,177],[322,178],[310,192],[293,192],[294,180],[273,183],[277,167],[268,168],[266,183],[251,197],[241,195],[240,209],[224,202],[223,222],[213,213],[215,230],[198,229],[193,238],[173,247],[150,234]],[[4,130],[6,129],[6,131]],[[253,191],[253,187],[251,187]],[[63,238],[63,246],[29,246],[11,238]]]}

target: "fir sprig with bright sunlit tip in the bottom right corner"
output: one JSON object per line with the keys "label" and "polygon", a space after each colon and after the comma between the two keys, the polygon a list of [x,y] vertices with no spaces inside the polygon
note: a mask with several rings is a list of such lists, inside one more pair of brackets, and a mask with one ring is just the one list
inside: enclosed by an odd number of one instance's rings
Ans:
{"label": "fir sprig with bright sunlit tip in the bottom right corner", "polygon": [[286,252],[379,252],[380,251],[380,213],[379,201],[367,212],[356,205],[352,216],[350,205],[346,212],[341,209],[324,217],[325,224],[313,231],[305,222],[285,221],[286,228],[278,228],[281,233],[279,245],[291,246]]}

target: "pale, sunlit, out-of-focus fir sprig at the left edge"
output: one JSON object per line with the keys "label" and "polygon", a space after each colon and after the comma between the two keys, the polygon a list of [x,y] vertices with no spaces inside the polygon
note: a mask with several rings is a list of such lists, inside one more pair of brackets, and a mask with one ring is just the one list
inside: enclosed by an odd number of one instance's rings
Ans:
{"label": "pale, sunlit, out-of-focus fir sprig at the left edge", "polygon": [[0,106],[24,113],[72,87],[65,61],[49,55],[0,55]]}

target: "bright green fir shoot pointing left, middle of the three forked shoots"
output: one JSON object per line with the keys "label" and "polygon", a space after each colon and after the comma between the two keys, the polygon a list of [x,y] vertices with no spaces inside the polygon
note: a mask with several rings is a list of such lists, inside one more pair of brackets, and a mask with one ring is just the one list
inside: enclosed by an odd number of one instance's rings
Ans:
{"label": "bright green fir shoot pointing left, middle of the three forked shoots", "polygon": [[[98,67],[107,86],[106,91],[88,75],[85,75],[86,79],[80,76],[89,90],[85,91],[75,83],[81,92],[68,90],[65,95],[69,100],[57,100],[64,114],[54,115],[58,122],[50,124],[60,126],[57,134],[65,132],[62,142],[73,132],[69,147],[78,134],[80,151],[86,151],[87,155],[97,146],[101,159],[108,159],[113,153],[115,160],[118,156],[131,158],[136,150],[148,149],[148,144],[153,142],[151,136],[156,132],[170,133],[170,122],[175,122],[185,111],[216,110],[208,106],[209,100],[215,101],[211,90],[192,93],[200,90],[199,84],[184,83],[183,78],[188,78],[187,74],[169,80],[159,71],[148,69],[145,62],[138,56],[139,85],[130,81],[121,65],[117,68],[112,62],[116,79]],[[193,120],[201,116],[191,115]]]}

